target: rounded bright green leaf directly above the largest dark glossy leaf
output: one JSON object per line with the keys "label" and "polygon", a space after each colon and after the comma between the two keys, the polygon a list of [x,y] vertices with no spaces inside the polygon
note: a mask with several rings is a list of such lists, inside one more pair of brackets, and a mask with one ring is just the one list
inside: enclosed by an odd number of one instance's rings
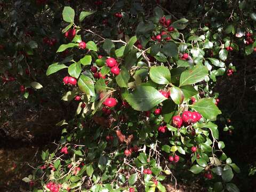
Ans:
{"label": "rounded bright green leaf directly above the largest dark glossy leaf", "polygon": [[167,67],[153,66],[149,70],[151,80],[157,84],[169,84],[171,82],[171,73]]}

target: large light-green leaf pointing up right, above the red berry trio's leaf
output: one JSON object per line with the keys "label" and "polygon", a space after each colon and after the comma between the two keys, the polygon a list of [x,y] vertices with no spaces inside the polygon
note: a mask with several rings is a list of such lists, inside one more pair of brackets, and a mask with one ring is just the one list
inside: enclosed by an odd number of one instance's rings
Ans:
{"label": "large light-green leaf pointing up right, above the red berry trio's leaf", "polygon": [[180,76],[180,86],[201,82],[207,75],[208,69],[201,64],[197,64],[195,67],[182,72]]}

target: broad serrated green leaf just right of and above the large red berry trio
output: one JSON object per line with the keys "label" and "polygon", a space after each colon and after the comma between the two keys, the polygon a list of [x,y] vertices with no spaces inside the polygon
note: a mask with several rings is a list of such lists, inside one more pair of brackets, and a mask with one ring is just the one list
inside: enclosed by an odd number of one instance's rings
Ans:
{"label": "broad serrated green leaf just right of and above the large red berry trio", "polygon": [[214,104],[213,99],[203,98],[199,99],[193,105],[189,107],[198,111],[206,119],[215,119],[217,115],[221,114],[219,108]]}

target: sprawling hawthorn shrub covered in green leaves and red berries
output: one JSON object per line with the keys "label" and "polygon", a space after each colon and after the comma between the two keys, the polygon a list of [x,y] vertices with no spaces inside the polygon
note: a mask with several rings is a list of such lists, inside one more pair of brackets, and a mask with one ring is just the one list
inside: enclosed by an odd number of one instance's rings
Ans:
{"label": "sprawling hawthorn shrub covered in green leaves and red berries", "polygon": [[[165,1],[95,1],[97,11],[79,3],[70,1],[75,11],[62,7],[68,2],[20,1],[15,6],[36,5],[38,15],[62,11],[63,21],[51,23],[55,33],[35,30],[32,39],[19,31],[14,47],[1,46],[11,58],[1,68],[1,92],[14,82],[28,98],[54,74],[63,86],[52,90],[77,106],[74,118],[57,124],[56,150],[42,151],[42,165],[23,178],[31,190],[166,191],[184,173],[201,175],[213,191],[239,191],[232,181],[239,167],[214,124],[221,111],[213,87],[236,72],[235,55],[255,51],[254,1],[190,1],[183,17]],[[93,19],[99,25],[87,25]],[[31,74],[41,68],[49,77]]]}

